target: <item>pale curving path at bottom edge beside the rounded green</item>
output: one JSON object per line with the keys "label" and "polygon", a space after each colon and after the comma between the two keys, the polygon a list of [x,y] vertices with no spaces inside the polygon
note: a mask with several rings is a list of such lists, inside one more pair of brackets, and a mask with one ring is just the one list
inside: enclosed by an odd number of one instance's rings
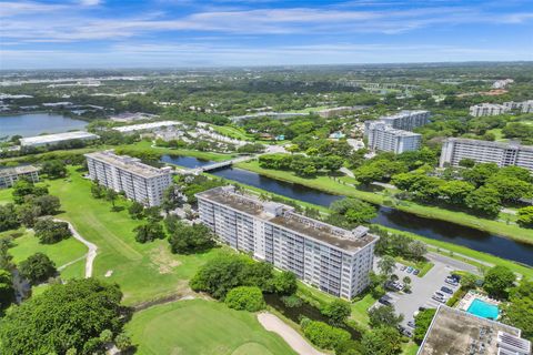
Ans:
{"label": "pale curving path at bottom edge beside the rounded green", "polygon": [[272,313],[258,314],[258,321],[269,332],[274,332],[280,335],[294,352],[300,355],[325,355],[315,349],[308,343],[296,331],[283,323],[279,317]]}

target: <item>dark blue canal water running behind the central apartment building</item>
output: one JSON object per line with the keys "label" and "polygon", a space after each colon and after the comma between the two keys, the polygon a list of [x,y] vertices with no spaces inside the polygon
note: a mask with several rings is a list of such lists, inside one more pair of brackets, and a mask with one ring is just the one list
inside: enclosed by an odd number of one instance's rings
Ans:
{"label": "dark blue canal water running behind the central apartment building", "polygon": [[[197,168],[211,163],[191,156],[172,155],[164,155],[162,161],[185,168]],[[258,173],[242,169],[227,168],[211,173],[271,193],[321,206],[329,206],[332,202],[344,199],[344,196],[262,176]],[[475,251],[533,266],[533,245],[512,241],[476,229],[439,220],[420,217],[415,214],[386,206],[378,207],[378,216],[372,220],[372,223],[415,233],[433,240],[463,245]]]}

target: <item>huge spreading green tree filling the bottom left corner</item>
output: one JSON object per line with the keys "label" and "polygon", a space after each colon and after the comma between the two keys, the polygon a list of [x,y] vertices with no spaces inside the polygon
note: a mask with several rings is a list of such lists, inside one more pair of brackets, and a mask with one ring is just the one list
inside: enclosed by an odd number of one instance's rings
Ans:
{"label": "huge spreading green tree filling the bottom left corner", "polygon": [[121,297],[117,285],[97,278],[51,285],[42,295],[6,315],[0,327],[0,353],[64,354],[70,348],[81,352],[104,329],[120,332]]}

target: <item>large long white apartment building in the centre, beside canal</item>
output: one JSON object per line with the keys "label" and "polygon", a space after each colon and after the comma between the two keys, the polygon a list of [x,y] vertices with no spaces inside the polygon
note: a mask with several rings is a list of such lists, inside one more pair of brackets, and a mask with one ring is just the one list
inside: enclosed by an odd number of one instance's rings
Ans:
{"label": "large long white apartment building in the centre, beside canal", "polygon": [[197,194],[200,219],[231,247],[252,254],[332,295],[353,298],[369,285],[378,236],[339,229],[233,186]]}

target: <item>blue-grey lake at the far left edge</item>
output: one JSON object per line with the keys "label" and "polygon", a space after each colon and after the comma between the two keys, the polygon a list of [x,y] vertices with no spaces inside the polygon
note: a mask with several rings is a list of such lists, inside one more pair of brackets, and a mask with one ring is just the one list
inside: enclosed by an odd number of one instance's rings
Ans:
{"label": "blue-grey lake at the far left edge", "polygon": [[41,133],[61,133],[82,130],[86,125],[86,121],[54,113],[0,115],[0,138],[16,134],[33,136]]}

